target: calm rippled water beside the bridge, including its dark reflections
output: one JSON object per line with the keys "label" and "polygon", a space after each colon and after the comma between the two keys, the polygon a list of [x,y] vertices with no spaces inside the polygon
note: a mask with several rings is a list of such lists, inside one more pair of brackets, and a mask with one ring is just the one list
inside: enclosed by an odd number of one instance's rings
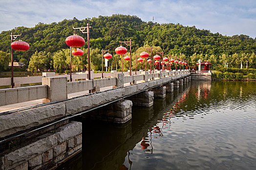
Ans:
{"label": "calm rippled water beside the bridge, including its dark reflections", "polygon": [[59,169],[255,170],[256,82],[192,82],[125,125],[84,120],[82,154]]}

